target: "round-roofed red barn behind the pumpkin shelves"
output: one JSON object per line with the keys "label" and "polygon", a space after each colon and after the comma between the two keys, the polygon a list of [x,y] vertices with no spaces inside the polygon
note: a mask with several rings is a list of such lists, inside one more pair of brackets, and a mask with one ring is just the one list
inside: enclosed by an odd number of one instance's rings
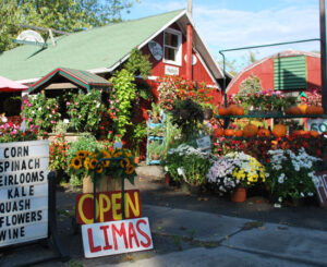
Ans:
{"label": "round-roofed red barn behind the pumpkin shelves", "polygon": [[320,54],[287,50],[246,66],[227,87],[227,95],[237,94],[250,76],[261,81],[263,90],[305,92],[322,87]]}

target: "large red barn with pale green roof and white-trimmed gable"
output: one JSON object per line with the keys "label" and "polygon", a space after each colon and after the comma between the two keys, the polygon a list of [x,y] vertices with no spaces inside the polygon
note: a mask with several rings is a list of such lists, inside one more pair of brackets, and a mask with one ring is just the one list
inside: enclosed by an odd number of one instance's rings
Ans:
{"label": "large red barn with pale green roof and white-trimmed gable", "polygon": [[43,48],[24,45],[3,52],[0,54],[1,75],[32,85],[62,66],[109,78],[136,47],[149,54],[153,70],[147,82],[154,88],[158,77],[180,75],[216,88],[218,102],[221,69],[185,10],[72,33],[56,37],[53,43],[56,46],[48,41]]}

